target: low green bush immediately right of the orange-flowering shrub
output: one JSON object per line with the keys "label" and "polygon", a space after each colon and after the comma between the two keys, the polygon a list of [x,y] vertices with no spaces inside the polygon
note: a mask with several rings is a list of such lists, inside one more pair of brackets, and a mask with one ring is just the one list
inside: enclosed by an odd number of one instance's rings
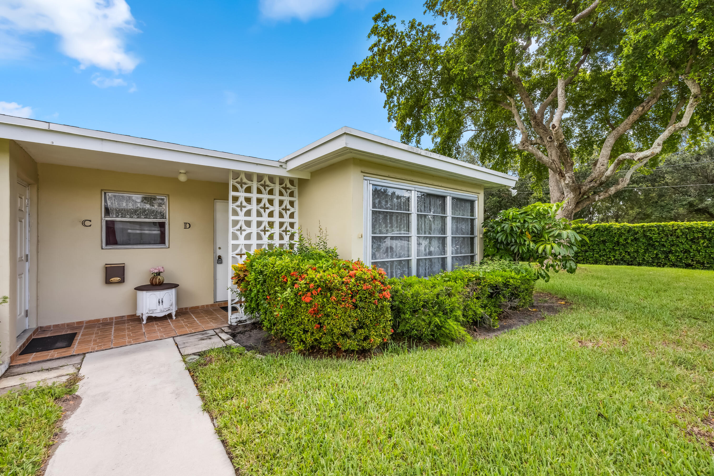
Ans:
{"label": "low green bush immediately right of the orange-flowering shrub", "polygon": [[393,328],[406,338],[447,343],[468,338],[461,326],[461,283],[433,278],[392,278]]}

